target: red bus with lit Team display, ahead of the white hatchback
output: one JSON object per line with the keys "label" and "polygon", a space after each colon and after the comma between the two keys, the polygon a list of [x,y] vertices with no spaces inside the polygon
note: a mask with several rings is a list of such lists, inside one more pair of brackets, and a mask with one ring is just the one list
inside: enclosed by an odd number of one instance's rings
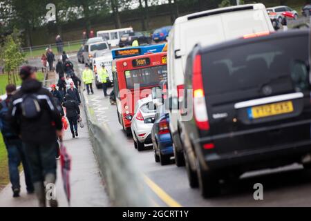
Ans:
{"label": "red bus with lit Team display, ahead of the white hatchback", "polygon": [[151,95],[151,88],[167,79],[167,52],[117,59],[114,73],[117,115],[123,130],[131,133],[131,120],[138,99]]}

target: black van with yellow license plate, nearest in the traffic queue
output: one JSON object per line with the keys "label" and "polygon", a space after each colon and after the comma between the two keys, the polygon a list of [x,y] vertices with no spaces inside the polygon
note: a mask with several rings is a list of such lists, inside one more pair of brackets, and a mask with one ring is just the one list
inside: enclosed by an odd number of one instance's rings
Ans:
{"label": "black van with yellow license plate, nearest in the traffic queue", "polygon": [[308,34],[258,33],[190,53],[185,89],[193,96],[185,102],[193,117],[180,133],[190,185],[204,197],[218,195],[228,175],[310,167]]}

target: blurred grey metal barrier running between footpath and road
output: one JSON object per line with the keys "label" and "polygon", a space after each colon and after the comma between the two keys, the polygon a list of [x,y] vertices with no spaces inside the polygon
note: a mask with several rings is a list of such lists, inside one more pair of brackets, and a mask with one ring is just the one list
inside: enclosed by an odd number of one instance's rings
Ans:
{"label": "blurred grey metal barrier running between footpath and road", "polygon": [[88,106],[88,99],[83,93],[81,97],[95,158],[112,205],[155,206],[148,197],[143,178],[131,165],[131,157],[122,151],[106,124],[97,124],[94,111]]}

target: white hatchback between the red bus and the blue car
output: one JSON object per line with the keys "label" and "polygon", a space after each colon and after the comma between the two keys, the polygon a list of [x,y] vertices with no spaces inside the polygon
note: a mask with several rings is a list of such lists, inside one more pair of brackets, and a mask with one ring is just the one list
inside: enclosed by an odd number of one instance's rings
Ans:
{"label": "white hatchback between the red bus and the blue car", "polygon": [[151,129],[156,116],[156,106],[151,96],[138,100],[135,114],[131,117],[131,131],[134,146],[138,151],[144,150],[144,144],[152,144]]}

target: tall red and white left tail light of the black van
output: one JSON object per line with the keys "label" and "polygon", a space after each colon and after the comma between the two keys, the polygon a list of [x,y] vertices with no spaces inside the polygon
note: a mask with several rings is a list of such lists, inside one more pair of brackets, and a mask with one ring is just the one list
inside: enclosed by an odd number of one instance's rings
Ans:
{"label": "tall red and white left tail light of the black van", "polygon": [[203,89],[201,55],[196,55],[194,59],[192,87],[194,97],[194,119],[200,130],[209,130],[209,119],[205,103],[205,93]]}

